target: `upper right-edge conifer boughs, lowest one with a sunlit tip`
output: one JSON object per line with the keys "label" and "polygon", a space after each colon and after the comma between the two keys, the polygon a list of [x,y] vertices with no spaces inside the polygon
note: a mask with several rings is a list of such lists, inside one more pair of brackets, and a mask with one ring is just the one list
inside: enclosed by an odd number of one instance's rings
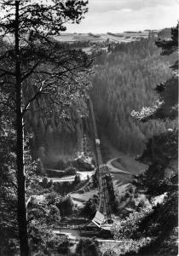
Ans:
{"label": "upper right-edge conifer boughs, lowest one with a sunlit tip", "polygon": [[[157,46],[162,49],[161,55],[171,55],[178,48],[178,23],[176,27],[171,28],[171,38],[161,39],[156,42]],[[175,55],[172,55],[174,57]],[[155,90],[159,93],[157,104],[150,108],[142,108],[141,113],[133,111],[133,115],[146,122],[148,119],[175,119],[178,113],[178,61],[170,68],[173,70],[173,75],[165,83],[157,84]]]}

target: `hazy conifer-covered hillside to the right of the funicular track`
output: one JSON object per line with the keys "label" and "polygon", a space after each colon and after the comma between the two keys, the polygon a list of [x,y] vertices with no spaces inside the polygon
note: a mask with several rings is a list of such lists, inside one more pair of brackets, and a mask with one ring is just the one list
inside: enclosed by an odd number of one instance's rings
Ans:
{"label": "hazy conifer-covered hillside to the right of the funicular track", "polygon": [[155,84],[170,77],[169,61],[153,38],[115,44],[96,56],[90,95],[98,128],[120,151],[141,153],[147,137],[165,131],[167,121],[141,124],[130,113],[152,104]]}

